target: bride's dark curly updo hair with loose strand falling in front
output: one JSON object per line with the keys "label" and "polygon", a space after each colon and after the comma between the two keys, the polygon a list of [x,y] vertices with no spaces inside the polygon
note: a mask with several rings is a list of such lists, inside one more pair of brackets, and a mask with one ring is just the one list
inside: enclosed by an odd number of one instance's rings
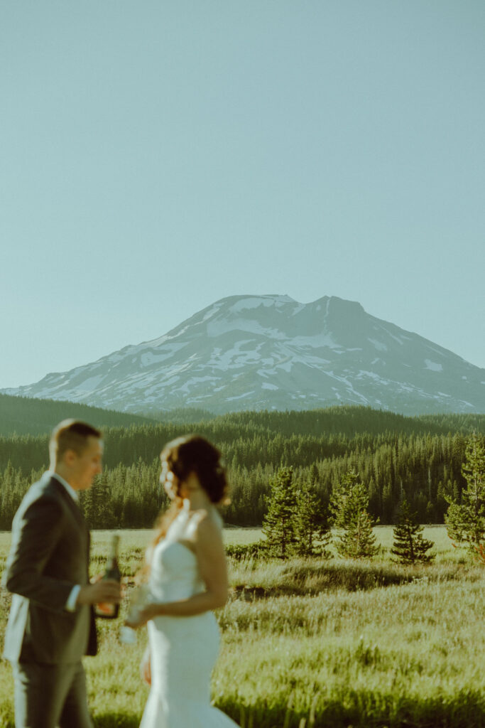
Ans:
{"label": "bride's dark curly updo hair with loose strand falling in front", "polygon": [[212,503],[225,505],[229,502],[228,481],[221,454],[212,443],[209,443],[209,440],[200,435],[184,435],[176,438],[167,443],[161,451],[160,459],[167,463],[169,470],[177,477],[178,488],[169,510],[162,513],[156,521],[153,545],[164,538],[170,524],[175,521],[183,507],[183,499],[179,492],[180,484],[187,480],[191,472],[194,472],[199,478],[201,487],[204,488]]}

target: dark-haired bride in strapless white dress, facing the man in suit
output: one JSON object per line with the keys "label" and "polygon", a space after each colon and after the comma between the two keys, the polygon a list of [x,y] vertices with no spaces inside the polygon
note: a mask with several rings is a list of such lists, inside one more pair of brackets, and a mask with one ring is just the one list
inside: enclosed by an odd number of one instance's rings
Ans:
{"label": "dark-haired bride in strapless white dress, facing the man in suit", "polygon": [[172,506],[148,549],[153,603],[130,627],[148,622],[141,673],[151,685],[140,728],[234,728],[210,704],[210,677],[219,649],[212,609],[224,606],[228,575],[222,519],[227,492],[220,453],[191,435],[161,452],[160,482]]}

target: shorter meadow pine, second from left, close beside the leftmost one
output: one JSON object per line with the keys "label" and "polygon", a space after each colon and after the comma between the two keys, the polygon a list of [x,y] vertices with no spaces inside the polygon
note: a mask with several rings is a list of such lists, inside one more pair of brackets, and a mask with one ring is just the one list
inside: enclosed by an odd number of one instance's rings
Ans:
{"label": "shorter meadow pine, second from left, close beside the leftmost one", "polygon": [[328,514],[310,483],[303,483],[297,491],[294,531],[297,537],[296,551],[300,556],[329,558],[327,547],[332,534]]}

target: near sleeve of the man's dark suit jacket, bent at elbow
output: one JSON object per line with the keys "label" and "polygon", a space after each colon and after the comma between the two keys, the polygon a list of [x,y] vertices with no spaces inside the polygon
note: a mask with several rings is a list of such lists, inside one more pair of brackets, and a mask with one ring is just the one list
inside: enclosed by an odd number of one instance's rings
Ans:
{"label": "near sleeve of the man's dark suit jacket, bent at elbow", "polygon": [[[20,514],[19,514],[20,515]],[[73,582],[44,574],[44,567],[63,529],[63,509],[49,496],[41,496],[20,515],[12,529],[5,585],[10,592],[44,609],[63,612]]]}

